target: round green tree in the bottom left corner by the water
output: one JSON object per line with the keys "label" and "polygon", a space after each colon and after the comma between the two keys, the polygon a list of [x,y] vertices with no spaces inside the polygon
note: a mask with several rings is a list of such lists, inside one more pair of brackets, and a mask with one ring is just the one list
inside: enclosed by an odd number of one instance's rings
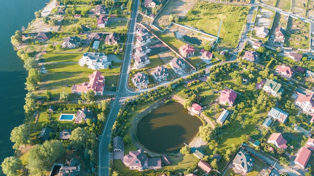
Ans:
{"label": "round green tree in the bottom left corner by the water", "polygon": [[18,170],[22,167],[22,162],[19,158],[15,156],[10,156],[4,159],[1,164],[2,171],[7,176],[16,176],[18,174]]}

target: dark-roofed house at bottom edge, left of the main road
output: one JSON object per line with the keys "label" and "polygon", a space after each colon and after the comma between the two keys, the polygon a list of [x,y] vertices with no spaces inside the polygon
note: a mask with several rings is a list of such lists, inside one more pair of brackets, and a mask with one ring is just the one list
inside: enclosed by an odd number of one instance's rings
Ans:
{"label": "dark-roofed house at bottom edge, left of the main road", "polygon": [[[81,163],[77,159],[66,159],[66,164],[61,166],[62,176],[79,176],[81,175]],[[59,172],[60,172],[59,171]],[[58,174],[59,175],[59,174]]]}

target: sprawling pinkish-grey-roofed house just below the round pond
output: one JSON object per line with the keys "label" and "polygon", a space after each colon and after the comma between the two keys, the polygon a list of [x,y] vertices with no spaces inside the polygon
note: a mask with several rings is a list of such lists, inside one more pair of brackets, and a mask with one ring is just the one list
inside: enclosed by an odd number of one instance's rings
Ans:
{"label": "sprawling pinkish-grey-roofed house just below the round pond", "polygon": [[161,158],[147,158],[142,149],[129,151],[123,157],[123,164],[130,170],[144,170],[147,168],[162,168]]}

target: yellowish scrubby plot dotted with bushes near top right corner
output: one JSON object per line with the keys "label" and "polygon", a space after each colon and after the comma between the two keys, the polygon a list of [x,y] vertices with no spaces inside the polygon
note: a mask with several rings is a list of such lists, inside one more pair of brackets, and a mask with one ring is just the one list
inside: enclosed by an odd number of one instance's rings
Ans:
{"label": "yellowish scrubby plot dotted with bushes near top right corner", "polygon": [[309,24],[289,17],[285,34],[285,47],[309,50]]}

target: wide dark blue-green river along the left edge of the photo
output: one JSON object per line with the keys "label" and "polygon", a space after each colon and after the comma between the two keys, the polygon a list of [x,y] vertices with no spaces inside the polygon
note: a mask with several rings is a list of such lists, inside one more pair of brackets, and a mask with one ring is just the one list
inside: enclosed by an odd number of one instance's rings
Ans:
{"label": "wide dark blue-green river along the left edge of the photo", "polygon": [[[10,133],[24,120],[24,83],[27,72],[11,45],[11,36],[22,26],[27,27],[34,12],[44,8],[49,0],[2,0],[0,11],[0,162],[14,155]],[[0,172],[0,175],[4,175]]]}

